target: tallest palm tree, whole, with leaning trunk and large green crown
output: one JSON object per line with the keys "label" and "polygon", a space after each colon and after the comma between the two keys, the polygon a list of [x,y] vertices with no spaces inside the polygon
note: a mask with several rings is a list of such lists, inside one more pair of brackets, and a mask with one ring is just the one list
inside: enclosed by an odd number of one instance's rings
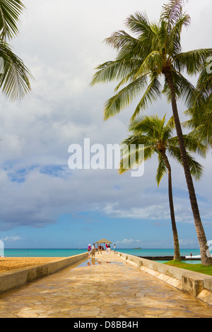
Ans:
{"label": "tallest palm tree, whole, with leaning trunk and large green crown", "polygon": [[[117,50],[117,57],[114,61],[97,66],[90,84],[119,81],[115,88],[116,93],[105,103],[105,120],[119,113],[139,95],[141,99],[131,117],[132,120],[162,93],[167,97],[167,101],[171,102],[199,240],[201,263],[208,265],[212,264],[212,258],[206,253],[208,245],[187,160],[177,100],[182,98],[187,108],[192,107],[194,85],[182,75],[182,71],[189,75],[199,73],[204,61],[212,54],[212,49],[182,52],[180,36],[182,28],[187,27],[189,23],[189,16],[182,12],[182,0],[172,0],[163,6],[158,23],[150,23],[146,13],[136,12],[129,16],[125,24],[134,35],[121,30],[105,40],[107,45]],[[122,85],[124,88],[121,88]]]}

